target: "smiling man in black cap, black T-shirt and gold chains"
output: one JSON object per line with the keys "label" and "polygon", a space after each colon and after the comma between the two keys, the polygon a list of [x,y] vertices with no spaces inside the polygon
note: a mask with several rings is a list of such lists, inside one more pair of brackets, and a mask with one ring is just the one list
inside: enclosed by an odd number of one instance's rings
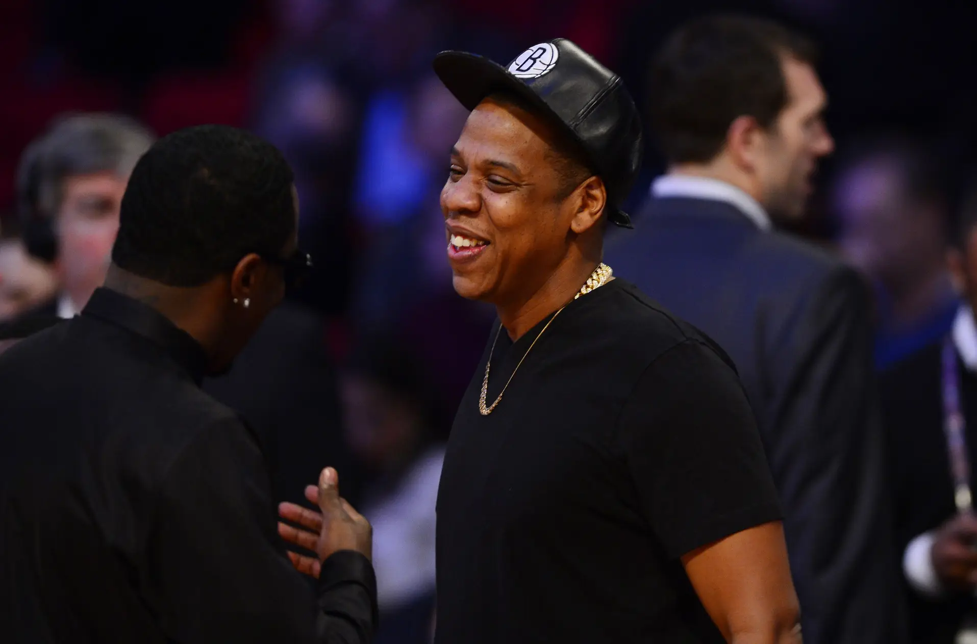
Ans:
{"label": "smiling man in black cap, black T-shirt and gold chains", "polygon": [[500,320],[446,452],[437,642],[798,642],[735,370],[601,262],[642,145],[620,79],[562,39],[435,70],[471,110],[441,196],[454,288]]}

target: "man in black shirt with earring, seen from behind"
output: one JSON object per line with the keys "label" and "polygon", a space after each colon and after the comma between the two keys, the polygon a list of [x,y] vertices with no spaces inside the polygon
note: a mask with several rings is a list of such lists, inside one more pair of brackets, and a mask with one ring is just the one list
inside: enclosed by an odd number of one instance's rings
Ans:
{"label": "man in black shirt with earring, seen from behind", "polygon": [[335,470],[310,495],[316,596],[279,540],[260,438],[199,388],[307,268],[296,201],[280,153],[251,135],[157,141],[126,188],[105,287],[0,356],[5,641],[369,638],[369,524]]}

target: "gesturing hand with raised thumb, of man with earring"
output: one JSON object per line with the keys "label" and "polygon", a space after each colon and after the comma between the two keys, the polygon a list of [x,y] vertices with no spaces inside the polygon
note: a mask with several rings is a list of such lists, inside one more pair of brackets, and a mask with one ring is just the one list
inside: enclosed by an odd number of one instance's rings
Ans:
{"label": "gesturing hand with raised thumb, of man with earring", "polygon": [[316,553],[316,557],[310,557],[289,550],[288,558],[300,573],[317,579],[321,562],[334,552],[356,550],[367,558],[372,554],[372,528],[360,512],[339,496],[338,483],[336,470],[326,467],[319,474],[319,487],[306,487],[306,499],[319,505],[319,512],[295,503],[278,505],[278,515],[299,526],[279,521],[278,535],[287,543]]}

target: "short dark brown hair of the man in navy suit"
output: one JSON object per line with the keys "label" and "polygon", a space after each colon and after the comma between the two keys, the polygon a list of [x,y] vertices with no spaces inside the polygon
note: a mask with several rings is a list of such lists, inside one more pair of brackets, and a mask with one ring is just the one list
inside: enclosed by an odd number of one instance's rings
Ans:
{"label": "short dark brown hair of the man in navy suit", "polygon": [[673,33],[652,63],[649,83],[651,121],[667,160],[712,160],[741,116],[774,126],[788,99],[785,58],[814,64],[817,51],[773,20],[710,15]]}

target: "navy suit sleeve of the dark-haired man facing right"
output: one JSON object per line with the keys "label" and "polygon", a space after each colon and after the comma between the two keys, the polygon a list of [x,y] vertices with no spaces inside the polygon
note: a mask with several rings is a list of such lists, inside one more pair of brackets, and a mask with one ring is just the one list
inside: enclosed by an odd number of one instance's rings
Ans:
{"label": "navy suit sleeve of the dark-haired man facing right", "polygon": [[853,270],[835,268],[766,361],[767,456],[808,644],[905,640],[870,302]]}

